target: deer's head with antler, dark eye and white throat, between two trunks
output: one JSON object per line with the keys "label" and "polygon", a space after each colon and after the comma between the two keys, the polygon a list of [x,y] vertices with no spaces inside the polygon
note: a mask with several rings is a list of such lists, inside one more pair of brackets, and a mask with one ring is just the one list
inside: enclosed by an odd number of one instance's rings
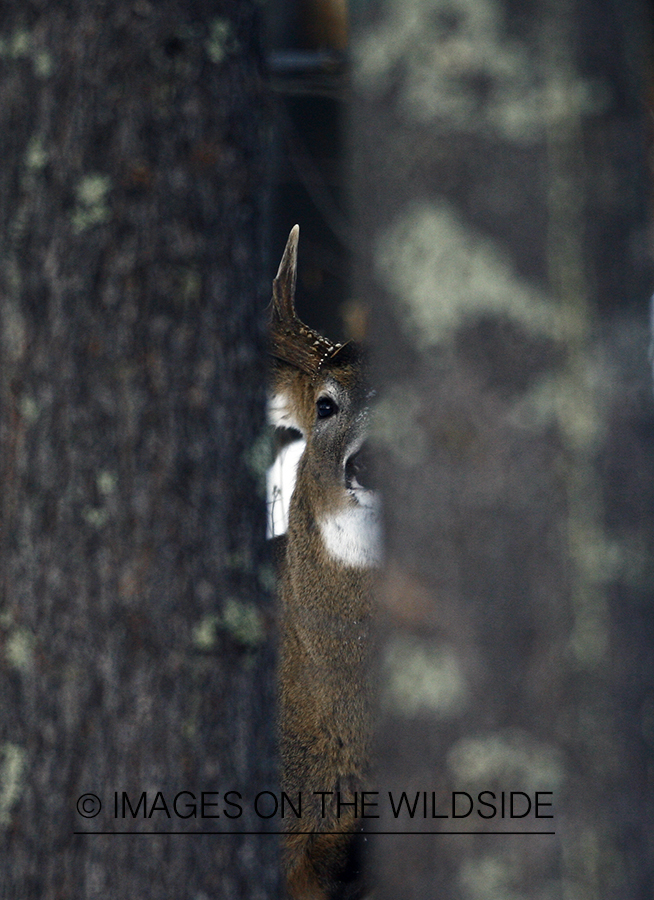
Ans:
{"label": "deer's head with antler, dark eye and white throat, between two trunks", "polygon": [[327,553],[346,565],[370,566],[379,553],[378,500],[366,442],[371,392],[364,353],[354,343],[333,343],[298,318],[299,232],[296,225],[273,282],[270,418],[306,442],[296,492],[311,505]]}

